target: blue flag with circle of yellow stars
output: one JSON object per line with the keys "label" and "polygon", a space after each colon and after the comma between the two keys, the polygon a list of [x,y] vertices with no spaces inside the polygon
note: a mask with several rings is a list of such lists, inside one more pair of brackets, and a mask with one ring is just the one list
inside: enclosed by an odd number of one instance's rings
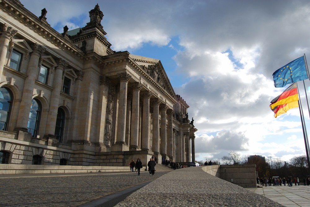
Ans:
{"label": "blue flag with circle of yellow stars", "polygon": [[303,56],[276,70],[273,74],[274,87],[281,88],[286,84],[308,78]]}

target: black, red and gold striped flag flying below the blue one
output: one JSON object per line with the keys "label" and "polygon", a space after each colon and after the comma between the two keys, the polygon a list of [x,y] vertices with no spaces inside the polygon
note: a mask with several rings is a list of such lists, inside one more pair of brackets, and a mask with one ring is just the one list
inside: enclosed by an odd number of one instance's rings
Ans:
{"label": "black, red and gold striped flag flying below the blue one", "polygon": [[298,100],[297,85],[293,83],[271,101],[270,108],[274,112],[274,117],[286,113],[291,108],[298,107]]}

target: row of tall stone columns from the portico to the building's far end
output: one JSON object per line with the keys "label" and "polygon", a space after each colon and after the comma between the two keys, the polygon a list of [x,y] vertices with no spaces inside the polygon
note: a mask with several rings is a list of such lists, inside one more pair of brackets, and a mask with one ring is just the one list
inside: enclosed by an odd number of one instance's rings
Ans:
{"label": "row of tall stone columns from the portico to the building's far end", "polygon": [[[119,106],[117,134],[115,143],[112,144],[112,151],[125,150],[127,147],[130,151],[153,151],[154,154],[161,154],[165,159],[174,162],[190,162],[190,158],[195,157],[193,154],[191,156],[191,152],[195,152],[194,135],[189,129],[184,130],[182,123],[178,130],[173,128],[174,110],[162,103],[160,99],[151,98],[150,91],[141,91],[143,86],[138,82],[131,83],[132,91],[128,91],[131,75],[127,72],[119,73],[117,76],[120,80]],[[150,107],[153,110],[152,126]]]}

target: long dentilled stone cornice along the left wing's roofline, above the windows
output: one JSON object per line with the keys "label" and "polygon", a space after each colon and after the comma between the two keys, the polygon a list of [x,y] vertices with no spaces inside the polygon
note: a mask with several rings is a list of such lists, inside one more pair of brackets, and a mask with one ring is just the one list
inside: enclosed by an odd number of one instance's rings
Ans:
{"label": "long dentilled stone cornice along the left wing's roofline, above the windows", "polygon": [[[82,58],[84,53],[70,40],[62,37],[62,35],[50,27],[47,22],[40,20],[30,11],[20,6],[17,2],[9,0],[0,0],[0,9],[9,13],[12,17],[32,28],[42,37],[49,39],[56,47],[61,48],[78,58]],[[10,26],[10,25],[8,25]]]}

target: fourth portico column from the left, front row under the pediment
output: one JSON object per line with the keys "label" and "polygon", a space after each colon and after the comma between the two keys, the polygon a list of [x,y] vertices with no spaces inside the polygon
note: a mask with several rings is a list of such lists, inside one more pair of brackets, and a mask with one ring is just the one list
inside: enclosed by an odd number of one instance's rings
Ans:
{"label": "fourth portico column from the left, front row under the pediment", "polygon": [[153,99],[153,153],[159,153],[159,99]]}

